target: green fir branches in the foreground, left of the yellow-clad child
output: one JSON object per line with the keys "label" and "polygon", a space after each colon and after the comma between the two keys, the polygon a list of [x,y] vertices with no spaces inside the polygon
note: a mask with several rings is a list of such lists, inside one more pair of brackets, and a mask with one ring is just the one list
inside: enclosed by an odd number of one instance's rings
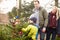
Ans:
{"label": "green fir branches in the foreground, left of the yellow-clad child", "polygon": [[[15,27],[11,24],[0,25],[0,40],[30,40],[31,37],[28,36],[29,31],[23,32],[22,28],[27,27],[28,23],[18,24]],[[22,32],[20,35],[19,32]]]}

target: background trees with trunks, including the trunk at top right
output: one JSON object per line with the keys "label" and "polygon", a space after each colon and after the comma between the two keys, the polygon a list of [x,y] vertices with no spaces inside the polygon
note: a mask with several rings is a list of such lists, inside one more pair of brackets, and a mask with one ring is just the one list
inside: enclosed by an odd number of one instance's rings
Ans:
{"label": "background trees with trunks, including the trunk at top right", "polygon": [[[14,16],[20,16],[21,17],[28,17],[33,9],[33,2],[29,3],[29,2],[25,2],[24,1],[24,5],[21,4],[22,0],[19,0],[19,9],[17,8],[13,8],[12,12],[9,12],[9,16],[10,18],[14,17]],[[58,7],[58,0],[54,0],[55,1],[55,6]],[[28,4],[28,5],[26,5]]]}

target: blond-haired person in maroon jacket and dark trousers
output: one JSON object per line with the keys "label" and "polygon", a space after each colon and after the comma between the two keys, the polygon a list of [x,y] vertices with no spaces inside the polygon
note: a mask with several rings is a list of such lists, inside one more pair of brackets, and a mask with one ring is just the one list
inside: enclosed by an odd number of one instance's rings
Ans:
{"label": "blond-haired person in maroon jacket and dark trousers", "polygon": [[53,7],[53,10],[49,13],[48,16],[48,27],[47,27],[47,34],[46,40],[50,40],[50,36],[52,34],[52,39],[55,40],[56,38],[56,31],[57,31],[57,20],[58,20],[58,10],[57,7]]}

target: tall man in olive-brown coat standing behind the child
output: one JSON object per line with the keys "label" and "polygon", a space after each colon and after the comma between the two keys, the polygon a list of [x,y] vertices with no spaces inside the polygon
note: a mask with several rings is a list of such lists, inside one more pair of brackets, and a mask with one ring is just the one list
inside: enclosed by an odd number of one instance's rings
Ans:
{"label": "tall man in olive-brown coat standing behind the child", "polygon": [[48,14],[47,11],[40,6],[40,3],[38,0],[34,0],[34,9],[33,9],[33,14],[30,16],[31,17],[36,17],[37,18],[37,24],[39,24],[39,33],[40,33],[40,40],[44,40],[45,36],[45,31],[46,31],[46,26],[48,24]]}

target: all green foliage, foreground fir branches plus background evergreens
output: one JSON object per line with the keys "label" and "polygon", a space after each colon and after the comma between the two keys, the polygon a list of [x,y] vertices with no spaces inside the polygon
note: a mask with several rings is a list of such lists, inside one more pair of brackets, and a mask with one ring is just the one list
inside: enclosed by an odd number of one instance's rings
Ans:
{"label": "all green foliage, foreground fir branches plus background evergreens", "polygon": [[[27,32],[22,32],[21,29],[28,26],[28,23],[26,22],[30,14],[32,13],[33,9],[33,2],[28,3],[29,5],[21,5],[22,8],[17,9],[13,8],[12,12],[9,12],[9,18],[13,19],[15,16],[19,16],[20,18],[20,24],[17,24],[15,26],[12,26],[12,24],[8,25],[0,25],[0,40],[32,40],[31,35],[28,36]],[[22,35],[19,34],[19,32],[22,32]]]}

